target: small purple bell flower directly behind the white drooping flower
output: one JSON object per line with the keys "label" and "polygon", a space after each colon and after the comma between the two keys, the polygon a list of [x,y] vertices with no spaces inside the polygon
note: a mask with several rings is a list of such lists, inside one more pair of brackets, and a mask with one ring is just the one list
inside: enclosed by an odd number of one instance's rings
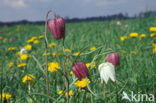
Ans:
{"label": "small purple bell flower directly behind the white drooping flower", "polygon": [[120,65],[120,55],[118,53],[108,54],[107,62],[110,62],[110,63],[112,63],[115,66]]}

